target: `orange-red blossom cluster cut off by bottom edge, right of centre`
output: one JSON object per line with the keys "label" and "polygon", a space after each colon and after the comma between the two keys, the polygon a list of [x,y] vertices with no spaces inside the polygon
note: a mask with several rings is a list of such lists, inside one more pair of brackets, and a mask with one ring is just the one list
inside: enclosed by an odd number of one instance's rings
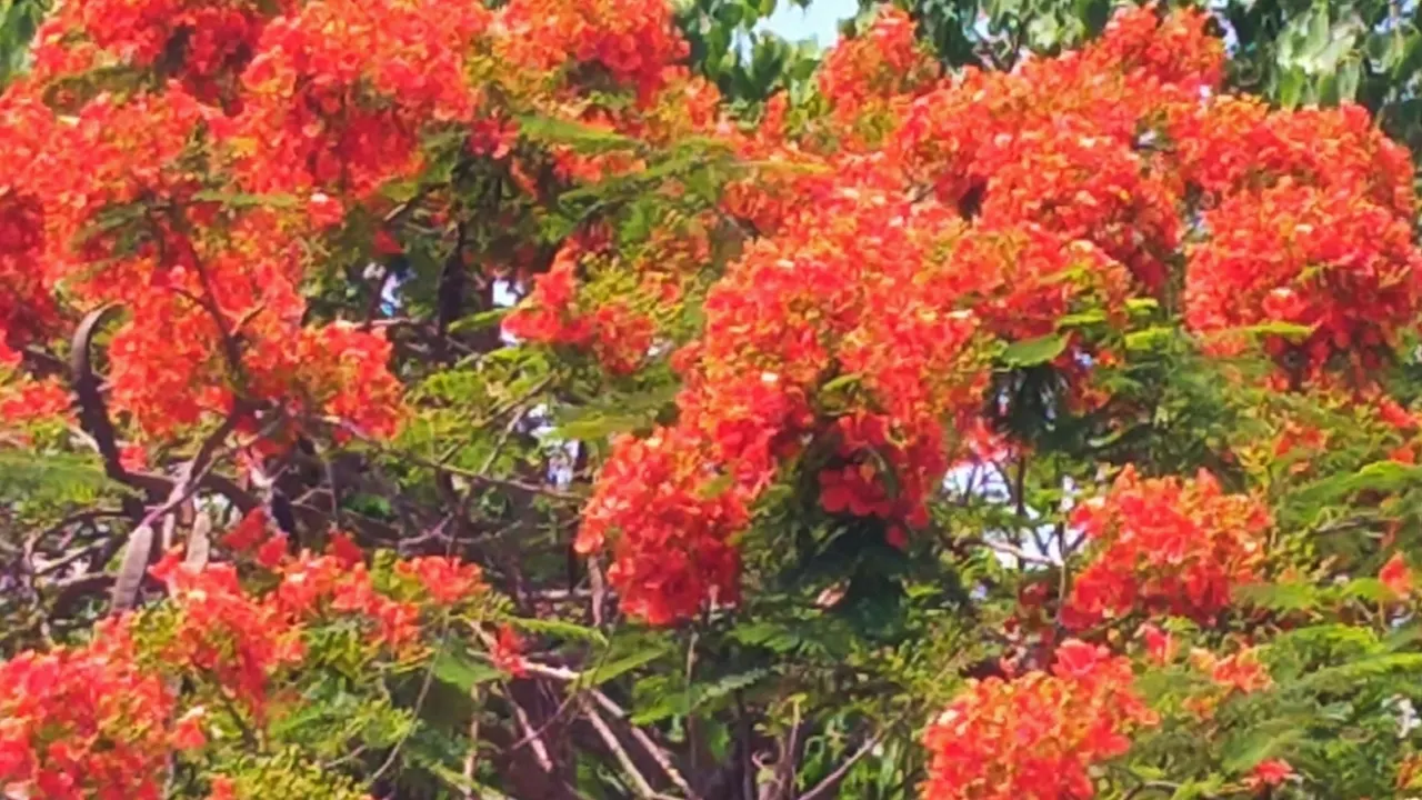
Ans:
{"label": "orange-red blossom cluster cut off by bottom edge, right of centre", "polygon": [[924,733],[924,800],[1065,800],[1095,796],[1088,769],[1155,725],[1130,662],[1068,641],[1051,673],[973,682]]}

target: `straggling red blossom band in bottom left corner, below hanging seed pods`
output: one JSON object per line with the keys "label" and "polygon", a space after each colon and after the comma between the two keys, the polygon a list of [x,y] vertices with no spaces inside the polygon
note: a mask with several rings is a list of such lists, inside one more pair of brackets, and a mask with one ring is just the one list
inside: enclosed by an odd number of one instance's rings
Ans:
{"label": "straggling red blossom band in bottom left corner, below hanging seed pods", "polygon": [[[269,549],[263,522],[249,515],[229,542]],[[354,621],[392,658],[418,646],[422,604],[377,588],[348,544],[287,557],[283,537],[270,542],[277,552],[259,555],[274,571],[267,591],[243,585],[233,564],[199,567],[173,551],[152,568],[168,588],[164,605],[101,623],[87,645],[0,662],[0,793],[156,800],[169,757],[205,744],[205,707],[259,727],[276,717],[319,625]],[[441,557],[397,562],[395,574],[435,606],[485,591],[476,565]]]}

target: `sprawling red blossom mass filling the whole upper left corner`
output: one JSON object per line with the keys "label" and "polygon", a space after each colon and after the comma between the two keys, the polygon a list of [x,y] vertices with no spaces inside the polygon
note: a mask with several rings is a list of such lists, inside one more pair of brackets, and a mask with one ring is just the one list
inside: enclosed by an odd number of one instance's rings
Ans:
{"label": "sprawling red blossom mass filling the whole upper left corner", "polygon": [[[20,350],[117,303],[109,404],[125,433],[169,441],[243,407],[392,434],[390,344],[311,319],[321,238],[356,208],[387,214],[383,189],[419,175],[432,134],[508,159],[510,120],[528,111],[651,140],[707,130],[720,95],[677,65],[684,54],[661,1],[61,3],[36,68],[0,100],[4,424],[55,411],[47,386],[10,374]],[[583,100],[611,90],[637,100]],[[593,174],[597,157],[552,149],[565,179]],[[543,196],[523,169],[515,182]],[[233,201],[255,195],[269,202]],[[589,316],[599,335],[574,339],[634,370],[650,322]]]}

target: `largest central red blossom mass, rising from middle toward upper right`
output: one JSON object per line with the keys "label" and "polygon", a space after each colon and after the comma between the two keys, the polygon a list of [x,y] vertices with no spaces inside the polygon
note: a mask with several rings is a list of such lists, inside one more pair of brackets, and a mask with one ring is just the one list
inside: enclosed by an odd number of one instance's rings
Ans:
{"label": "largest central red blossom mass, rising from middle toward upper right", "polygon": [[[1186,182],[1140,131],[1217,81],[1223,48],[1203,19],[1130,11],[1082,53],[953,78],[923,61],[910,27],[884,11],[829,57],[822,90],[845,111],[825,122],[829,137],[803,144],[823,149],[811,161],[832,174],[772,171],[728,192],[728,211],[766,236],[712,286],[701,337],[677,354],[687,383],[675,433],[620,446],[584,520],[582,548],[614,542],[614,584],[637,614],[685,616],[693,586],[734,596],[721,551],[806,446],[830,451],[819,474],[828,512],[883,518],[894,538],[926,524],[926,501],[983,430],[994,344],[1052,335],[1072,312],[1119,325],[1133,289],[1166,283]],[[855,111],[855,98],[886,102]],[[884,147],[842,147],[836,132],[866,115],[887,125]],[[802,161],[782,124],[772,102],[738,147]],[[569,278],[556,286],[570,296]],[[566,335],[546,307],[557,306],[536,298],[532,313]],[[1086,364],[1111,359],[1068,342],[1054,366],[1074,379],[1071,401],[1092,397]],[[685,465],[658,500],[697,520],[675,532],[643,488],[665,464]],[[668,577],[674,549],[717,552],[714,578],[680,575],[690,558]],[[674,601],[658,598],[673,585]]]}

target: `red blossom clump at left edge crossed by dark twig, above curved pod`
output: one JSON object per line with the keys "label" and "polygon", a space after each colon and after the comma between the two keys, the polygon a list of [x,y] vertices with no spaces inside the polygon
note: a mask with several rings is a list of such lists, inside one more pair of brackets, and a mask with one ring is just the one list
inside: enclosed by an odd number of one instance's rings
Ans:
{"label": "red blossom clump at left edge crossed by dark twig, above curved pod", "polygon": [[[6,101],[7,137],[46,140],[7,175],[10,196],[34,199],[9,218],[23,252],[0,263],[27,265],[27,292],[43,288],[80,309],[122,306],[109,347],[117,411],[159,438],[226,414],[237,397],[370,434],[394,430],[401,390],[385,370],[388,343],[304,320],[301,221],[201,198],[208,179],[192,158],[210,110],[176,87],[101,95],[73,117],[46,110],[24,84]],[[10,347],[54,329],[44,298],[26,307],[4,320]]]}

